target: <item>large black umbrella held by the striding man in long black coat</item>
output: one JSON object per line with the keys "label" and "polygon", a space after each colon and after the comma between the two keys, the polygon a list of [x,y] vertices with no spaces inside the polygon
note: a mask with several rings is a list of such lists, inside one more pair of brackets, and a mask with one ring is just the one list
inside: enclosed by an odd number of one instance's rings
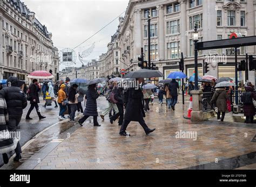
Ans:
{"label": "large black umbrella held by the striding man in long black coat", "polygon": [[151,78],[151,77],[163,77],[160,71],[150,69],[139,69],[137,71],[130,71],[125,78]]}

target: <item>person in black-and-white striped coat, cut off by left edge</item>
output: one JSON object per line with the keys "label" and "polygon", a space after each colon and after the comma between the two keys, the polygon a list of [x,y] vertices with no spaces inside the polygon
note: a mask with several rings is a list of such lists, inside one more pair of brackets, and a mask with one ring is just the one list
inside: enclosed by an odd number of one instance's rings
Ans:
{"label": "person in black-and-white striped coat, cut off by left edge", "polygon": [[3,161],[5,164],[9,162],[8,154],[16,149],[18,144],[18,139],[10,136],[8,131],[9,119],[8,119],[8,110],[5,99],[0,95],[0,134],[3,136],[0,139],[0,154],[3,155]]}

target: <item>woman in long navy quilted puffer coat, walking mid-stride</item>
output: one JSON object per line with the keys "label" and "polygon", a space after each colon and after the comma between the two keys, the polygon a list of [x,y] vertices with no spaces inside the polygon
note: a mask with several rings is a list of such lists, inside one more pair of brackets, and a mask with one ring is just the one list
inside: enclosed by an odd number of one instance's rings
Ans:
{"label": "woman in long navy quilted puffer coat, walking mid-stride", "polygon": [[84,116],[78,120],[78,123],[83,126],[82,124],[84,121],[89,118],[90,116],[93,116],[93,125],[94,126],[100,126],[97,121],[97,98],[99,97],[99,92],[96,91],[96,84],[89,85],[88,90],[85,94],[86,99],[86,107],[84,109]]}

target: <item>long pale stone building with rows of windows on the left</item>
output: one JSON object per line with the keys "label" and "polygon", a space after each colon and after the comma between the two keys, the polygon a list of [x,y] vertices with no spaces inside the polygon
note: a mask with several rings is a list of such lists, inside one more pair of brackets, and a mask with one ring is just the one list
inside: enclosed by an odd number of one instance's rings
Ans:
{"label": "long pale stone building with rows of windows on the left", "polygon": [[52,71],[57,80],[58,49],[48,32],[24,3],[0,0],[0,79],[17,76],[26,80],[31,71]]}

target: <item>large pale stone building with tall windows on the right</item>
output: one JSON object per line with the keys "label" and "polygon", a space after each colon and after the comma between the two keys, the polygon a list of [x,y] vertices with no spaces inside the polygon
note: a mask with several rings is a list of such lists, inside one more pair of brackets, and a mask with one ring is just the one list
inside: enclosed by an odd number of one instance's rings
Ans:
{"label": "large pale stone building with tall windows on the right", "polygon": [[[194,26],[198,28],[199,41],[228,39],[233,32],[252,36],[256,28],[255,12],[255,1],[248,0],[130,0],[125,17],[119,19],[116,41],[119,42],[118,50],[123,63],[118,69],[124,68],[127,72],[139,69],[138,56],[142,47],[147,60],[147,34],[150,32],[151,62],[156,63],[164,78],[172,71],[179,71],[181,52],[185,57],[185,73],[191,76],[194,70]],[[147,30],[149,13],[150,31]],[[245,59],[246,53],[256,54],[255,46],[238,48],[238,62]],[[224,58],[215,62],[209,60],[216,55]],[[210,63],[207,75],[235,77],[234,49],[199,51],[199,76],[203,75],[204,59]],[[105,63],[104,71],[111,67]],[[101,68],[100,75],[103,76],[104,66],[101,65]],[[239,81],[245,82],[242,71],[238,77]],[[255,83],[254,71],[249,72],[249,81]]]}

